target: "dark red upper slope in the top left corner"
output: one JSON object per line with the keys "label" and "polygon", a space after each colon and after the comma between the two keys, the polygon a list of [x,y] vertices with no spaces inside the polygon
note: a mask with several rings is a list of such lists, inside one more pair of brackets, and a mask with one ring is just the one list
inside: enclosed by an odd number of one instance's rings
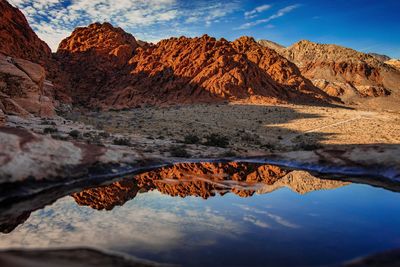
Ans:
{"label": "dark red upper slope in the top left corner", "polygon": [[0,0],[0,53],[45,65],[51,50],[31,29],[20,10]]}

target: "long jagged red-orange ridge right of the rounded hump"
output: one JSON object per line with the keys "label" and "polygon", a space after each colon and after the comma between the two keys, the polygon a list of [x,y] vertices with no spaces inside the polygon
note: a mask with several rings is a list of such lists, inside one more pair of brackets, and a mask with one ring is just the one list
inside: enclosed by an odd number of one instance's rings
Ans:
{"label": "long jagged red-orange ridge right of the rounded hump", "polygon": [[129,63],[129,74],[113,82],[113,94],[101,104],[326,99],[295,65],[247,37],[234,42],[207,35],[171,38],[139,49]]}

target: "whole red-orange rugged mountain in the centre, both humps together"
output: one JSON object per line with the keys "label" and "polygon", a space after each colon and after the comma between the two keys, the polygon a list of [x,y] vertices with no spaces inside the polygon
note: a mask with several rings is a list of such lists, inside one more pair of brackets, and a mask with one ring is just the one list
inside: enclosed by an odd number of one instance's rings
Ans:
{"label": "whole red-orange rugged mountain in the centre, both humps together", "polygon": [[294,64],[252,38],[228,42],[205,35],[138,46],[131,35],[108,23],[75,30],[57,51],[63,70],[71,75],[75,102],[123,108],[327,99]]}

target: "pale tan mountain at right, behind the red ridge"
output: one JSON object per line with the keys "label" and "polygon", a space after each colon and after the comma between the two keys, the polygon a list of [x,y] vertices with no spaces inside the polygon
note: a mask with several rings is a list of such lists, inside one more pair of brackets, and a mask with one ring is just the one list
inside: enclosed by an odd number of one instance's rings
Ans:
{"label": "pale tan mountain at right, behind the red ridge", "polygon": [[259,44],[276,49],[329,95],[348,100],[388,96],[400,91],[400,72],[382,62],[382,57],[377,55],[305,40],[287,48],[265,41],[259,41]]}

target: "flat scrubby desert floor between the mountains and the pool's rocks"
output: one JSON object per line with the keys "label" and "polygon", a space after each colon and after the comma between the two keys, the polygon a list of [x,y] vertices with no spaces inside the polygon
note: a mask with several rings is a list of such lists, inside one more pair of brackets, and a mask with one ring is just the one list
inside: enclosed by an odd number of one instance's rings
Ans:
{"label": "flat scrubby desert floor between the mountains and the pool's rocks", "polygon": [[89,113],[75,110],[54,119],[9,117],[8,125],[55,139],[129,146],[178,157],[400,144],[397,111],[305,105],[197,104]]}

